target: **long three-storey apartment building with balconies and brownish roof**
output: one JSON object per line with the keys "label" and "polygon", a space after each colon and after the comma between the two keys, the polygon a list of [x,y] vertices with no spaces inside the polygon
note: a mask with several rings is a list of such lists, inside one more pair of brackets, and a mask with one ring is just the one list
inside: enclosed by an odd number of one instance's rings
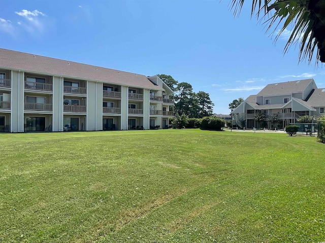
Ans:
{"label": "long three-storey apartment building with balconies and brownish roof", "polygon": [[168,128],[173,91],[156,75],[0,49],[0,131]]}

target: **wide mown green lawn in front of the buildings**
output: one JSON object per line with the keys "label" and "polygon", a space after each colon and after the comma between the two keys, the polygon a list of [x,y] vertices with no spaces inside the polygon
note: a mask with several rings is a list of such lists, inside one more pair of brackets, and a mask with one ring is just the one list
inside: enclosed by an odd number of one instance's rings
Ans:
{"label": "wide mown green lawn in front of the buildings", "polygon": [[1,134],[0,241],[325,241],[324,144],[284,133]]}

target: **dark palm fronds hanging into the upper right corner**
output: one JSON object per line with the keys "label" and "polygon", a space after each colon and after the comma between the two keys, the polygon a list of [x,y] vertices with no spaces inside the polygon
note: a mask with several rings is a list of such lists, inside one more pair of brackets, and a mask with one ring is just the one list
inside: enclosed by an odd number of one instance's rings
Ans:
{"label": "dark palm fronds hanging into the upper right corner", "polygon": [[[244,0],[232,0],[231,8],[238,15]],[[291,34],[284,48],[300,42],[299,61],[312,60],[315,49],[316,60],[325,62],[325,2],[323,0],[252,0],[251,15],[264,15],[267,31],[273,29],[277,40],[287,29]],[[278,27],[283,23],[280,31]],[[275,28],[273,28],[275,27]],[[316,48],[317,47],[317,48]]]}

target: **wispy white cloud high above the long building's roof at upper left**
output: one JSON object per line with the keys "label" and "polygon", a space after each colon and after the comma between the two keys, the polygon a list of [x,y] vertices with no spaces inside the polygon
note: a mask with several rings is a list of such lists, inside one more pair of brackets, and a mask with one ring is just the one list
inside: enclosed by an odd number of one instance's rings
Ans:
{"label": "wispy white cloud high above the long building's roof at upper left", "polygon": [[36,30],[42,31],[44,29],[44,25],[41,21],[41,18],[46,16],[44,13],[38,10],[31,12],[25,9],[15,13],[26,20],[26,22],[19,21],[18,24],[23,26],[28,32],[35,32]]}

